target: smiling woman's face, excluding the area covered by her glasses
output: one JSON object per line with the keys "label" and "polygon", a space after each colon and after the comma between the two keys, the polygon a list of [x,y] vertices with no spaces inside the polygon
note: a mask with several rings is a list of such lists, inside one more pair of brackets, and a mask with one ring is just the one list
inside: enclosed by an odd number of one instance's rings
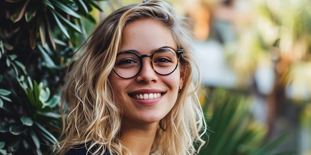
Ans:
{"label": "smiling woman's face, excluding the area covered by her glasses", "polygon": [[[152,54],[155,49],[163,46],[177,48],[170,30],[157,20],[140,19],[124,29],[118,53],[135,51],[138,55]],[[132,125],[154,123],[162,119],[172,109],[179,87],[183,84],[183,72],[179,65],[171,74],[159,75],[153,70],[149,57],[144,57],[142,61],[141,71],[133,78],[121,78],[114,71],[109,77],[117,101],[123,109],[123,117]]]}

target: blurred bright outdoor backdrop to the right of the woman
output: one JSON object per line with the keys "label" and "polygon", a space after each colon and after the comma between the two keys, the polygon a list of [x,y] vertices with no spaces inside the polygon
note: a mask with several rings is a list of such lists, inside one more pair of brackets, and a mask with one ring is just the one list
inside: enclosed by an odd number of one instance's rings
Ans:
{"label": "blurred bright outdoor backdrop to the right of the woman", "polygon": [[[311,1],[169,2],[194,21],[202,104],[213,131],[205,155],[311,155]],[[260,152],[284,135],[273,151]]]}

